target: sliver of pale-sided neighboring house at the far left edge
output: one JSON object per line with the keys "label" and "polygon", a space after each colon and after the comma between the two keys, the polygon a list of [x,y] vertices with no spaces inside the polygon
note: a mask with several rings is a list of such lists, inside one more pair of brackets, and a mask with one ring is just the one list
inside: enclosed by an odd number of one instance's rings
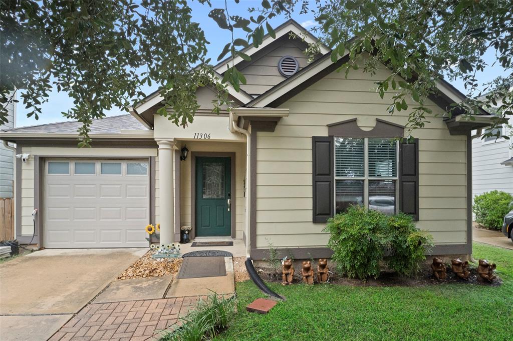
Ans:
{"label": "sliver of pale-sided neighboring house at the far left edge", "polygon": [[[0,131],[16,126],[16,103],[7,105],[9,122],[0,125]],[[14,195],[14,152],[0,143],[0,198],[12,198]]]}

